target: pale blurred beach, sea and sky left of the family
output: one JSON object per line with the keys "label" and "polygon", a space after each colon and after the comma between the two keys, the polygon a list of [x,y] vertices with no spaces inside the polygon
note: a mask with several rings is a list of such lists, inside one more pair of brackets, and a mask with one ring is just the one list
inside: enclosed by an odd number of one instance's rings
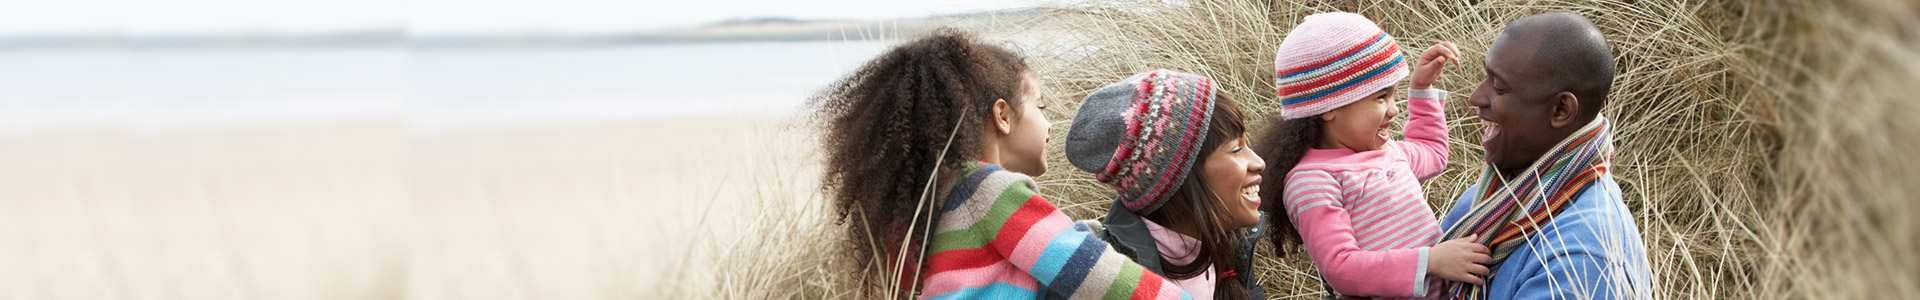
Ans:
{"label": "pale blurred beach, sea and sky left of the family", "polygon": [[1018,6],[0,0],[0,298],[655,298],[808,200],[814,88]]}

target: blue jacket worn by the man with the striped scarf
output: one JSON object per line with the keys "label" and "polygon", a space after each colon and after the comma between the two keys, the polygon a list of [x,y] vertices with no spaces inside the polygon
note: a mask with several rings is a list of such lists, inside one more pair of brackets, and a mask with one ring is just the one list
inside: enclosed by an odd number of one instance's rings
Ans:
{"label": "blue jacket worn by the man with the striped scarf", "polygon": [[[1467,215],[1476,194],[1478,185],[1467,188],[1440,219],[1440,227],[1452,227]],[[1584,187],[1567,212],[1534,233],[1503,263],[1488,267],[1494,269],[1486,283],[1490,300],[1653,298],[1647,246],[1640,240],[1640,227],[1620,200],[1620,185],[1613,183],[1613,175],[1601,175]]]}

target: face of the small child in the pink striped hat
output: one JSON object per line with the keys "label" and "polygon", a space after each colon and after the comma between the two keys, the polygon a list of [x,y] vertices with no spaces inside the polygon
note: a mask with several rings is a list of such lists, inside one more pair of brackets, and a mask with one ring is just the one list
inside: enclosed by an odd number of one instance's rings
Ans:
{"label": "face of the small child in the pink striped hat", "polygon": [[1367,98],[1321,113],[1327,127],[1321,129],[1321,144],[1315,148],[1379,150],[1386,144],[1386,131],[1394,125],[1394,115],[1400,115],[1400,106],[1394,106],[1394,88],[1380,88]]}

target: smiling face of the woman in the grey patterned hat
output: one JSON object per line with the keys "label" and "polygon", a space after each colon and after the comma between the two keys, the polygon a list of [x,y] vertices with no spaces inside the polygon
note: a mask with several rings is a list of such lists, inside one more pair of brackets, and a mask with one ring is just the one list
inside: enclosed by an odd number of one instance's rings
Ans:
{"label": "smiling face of the woman in the grey patterned hat", "polygon": [[1260,223],[1260,171],[1267,162],[1246,148],[1246,137],[1235,137],[1213,148],[1206,158],[1206,185],[1213,198],[1227,208],[1227,221],[1235,229]]}

